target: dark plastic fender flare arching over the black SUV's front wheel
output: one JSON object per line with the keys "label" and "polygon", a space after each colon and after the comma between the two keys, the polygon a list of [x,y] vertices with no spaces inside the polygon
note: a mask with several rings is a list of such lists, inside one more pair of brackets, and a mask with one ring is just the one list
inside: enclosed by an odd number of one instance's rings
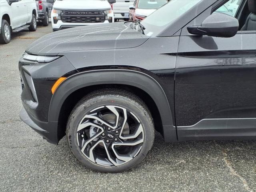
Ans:
{"label": "dark plastic fender flare arching over the black SUV's front wheel", "polygon": [[61,107],[70,94],[87,86],[99,84],[125,84],[144,90],[154,100],[163,125],[166,142],[176,142],[176,127],[166,94],[160,84],[148,74],[122,69],[103,69],[80,72],[68,77],[54,92],[50,102],[48,121],[58,122]]}

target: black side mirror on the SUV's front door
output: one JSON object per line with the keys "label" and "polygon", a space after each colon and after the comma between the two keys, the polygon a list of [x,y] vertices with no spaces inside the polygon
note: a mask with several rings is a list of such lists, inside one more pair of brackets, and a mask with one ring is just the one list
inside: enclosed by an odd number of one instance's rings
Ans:
{"label": "black side mirror on the SUV's front door", "polygon": [[208,16],[201,26],[187,27],[191,34],[212,37],[233,37],[236,35],[238,28],[238,20],[224,13],[214,13]]}

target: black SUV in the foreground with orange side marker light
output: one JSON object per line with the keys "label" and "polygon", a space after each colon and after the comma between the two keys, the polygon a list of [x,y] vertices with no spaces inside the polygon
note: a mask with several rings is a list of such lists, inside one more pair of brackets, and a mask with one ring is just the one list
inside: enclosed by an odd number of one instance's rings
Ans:
{"label": "black SUV in the foreground with orange side marker light", "polygon": [[[19,62],[20,118],[88,168],[140,163],[166,142],[256,139],[256,0],[172,0],[142,22],[48,34]],[[218,11],[217,11],[218,10]],[[231,10],[230,10],[231,12]]]}

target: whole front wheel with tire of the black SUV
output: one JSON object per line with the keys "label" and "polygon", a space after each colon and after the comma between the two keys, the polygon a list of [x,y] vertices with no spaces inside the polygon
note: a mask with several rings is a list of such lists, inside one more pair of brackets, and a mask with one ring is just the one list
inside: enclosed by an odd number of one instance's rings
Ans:
{"label": "whole front wheel with tire of the black SUV", "polygon": [[68,119],[66,136],[74,156],[99,172],[121,172],[144,160],[154,142],[148,107],[121,90],[83,98]]}

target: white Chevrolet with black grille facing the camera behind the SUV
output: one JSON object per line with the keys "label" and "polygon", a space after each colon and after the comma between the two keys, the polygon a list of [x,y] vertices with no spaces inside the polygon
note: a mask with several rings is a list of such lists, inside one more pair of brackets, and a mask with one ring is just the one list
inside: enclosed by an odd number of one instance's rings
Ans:
{"label": "white Chevrolet with black grille facing the camera behind the SUV", "polygon": [[52,30],[114,22],[110,4],[116,0],[56,0],[51,13]]}

